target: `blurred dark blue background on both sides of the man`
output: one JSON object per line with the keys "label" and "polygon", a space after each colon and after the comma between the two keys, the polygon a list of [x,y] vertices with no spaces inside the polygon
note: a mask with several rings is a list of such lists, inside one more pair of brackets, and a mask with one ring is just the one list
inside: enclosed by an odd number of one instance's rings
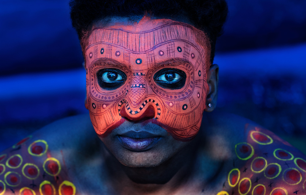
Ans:
{"label": "blurred dark blue background on both sides of the man", "polygon": [[[87,113],[69,0],[0,1],[0,151]],[[249,118],[306,153],[306,1],[228,0],[218,39],[218,109]]]}

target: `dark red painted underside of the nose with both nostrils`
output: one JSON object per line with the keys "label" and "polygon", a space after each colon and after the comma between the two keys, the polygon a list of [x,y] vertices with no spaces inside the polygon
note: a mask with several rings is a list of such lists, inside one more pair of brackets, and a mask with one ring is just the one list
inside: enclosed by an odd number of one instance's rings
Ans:
{"label": "dark red painted underside of the nose with both nostrils", "polygon": [[143,120],[143,119],[152,119],[155,117],[155,109],[153,105],[148,105],[148,107],[146,109],[142,109],[141,112],[142,113],[140,116],[139,115],[135,116],[131,113],[126,112],[126,109],[124,106],[120,110],[120,115],[122,117],[127,118],[128,120],[135,121],[135,122]]}

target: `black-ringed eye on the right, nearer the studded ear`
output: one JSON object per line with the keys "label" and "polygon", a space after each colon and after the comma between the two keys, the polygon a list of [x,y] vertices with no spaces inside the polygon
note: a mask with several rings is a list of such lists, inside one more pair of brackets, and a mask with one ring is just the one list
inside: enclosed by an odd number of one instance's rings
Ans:
{"label": "black-ringed eye on the right, nearer the studded ear", "polygon": [[186,73],[176,68],[163,68],[155,73],[156,84],[166,89],[181,89],[185,85]]}

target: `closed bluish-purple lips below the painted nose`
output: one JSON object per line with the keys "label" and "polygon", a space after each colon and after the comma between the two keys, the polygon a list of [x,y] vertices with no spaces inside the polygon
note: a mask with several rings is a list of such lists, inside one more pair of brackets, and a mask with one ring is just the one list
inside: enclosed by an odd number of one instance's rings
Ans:
{"label": "closed bluish-purple lips below the painted nose", "polygon": [[161,137],[146,131],[128,131],[118,135],[119,141],[126,149],[143,151],[150,149]]}

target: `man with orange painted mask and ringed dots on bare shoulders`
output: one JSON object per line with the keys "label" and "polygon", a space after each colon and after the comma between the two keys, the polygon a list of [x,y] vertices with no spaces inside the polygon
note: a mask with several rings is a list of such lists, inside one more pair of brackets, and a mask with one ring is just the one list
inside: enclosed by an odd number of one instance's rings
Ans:
{"label": "man with orange painted mask and ringed dots on bare shoulders", "polygon": [[211,112],[224,1],[71,6],[90,119],[57,121],[3,151],[0,195],[306,193],[301,152]]}

